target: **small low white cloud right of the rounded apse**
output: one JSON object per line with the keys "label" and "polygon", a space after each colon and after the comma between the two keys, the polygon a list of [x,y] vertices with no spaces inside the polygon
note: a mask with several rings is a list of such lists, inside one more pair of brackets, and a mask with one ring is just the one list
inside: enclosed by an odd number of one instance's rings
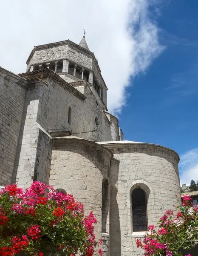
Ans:
{"label": "small low white cloud right of the rounded apse", "polygon": [[187,151],[180,157],[179,172],[181,184],[190,185],[191,180],[198,180],[198,148]]}

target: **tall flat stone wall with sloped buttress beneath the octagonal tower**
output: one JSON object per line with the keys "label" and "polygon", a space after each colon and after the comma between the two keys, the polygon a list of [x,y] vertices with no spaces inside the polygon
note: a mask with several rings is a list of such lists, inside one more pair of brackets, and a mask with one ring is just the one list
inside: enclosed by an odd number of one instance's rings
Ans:
{"label": "tall flat stone wall with sloped buttress beneath the octagonal tower", "polygon": [[[50,73],[50,72],[49,72]],[[76,94],[48,73],[44,81],[31,82],[25,96],[23,120],[13,182],[27,187],[33,180],[48,183],[51,160],[51,137],[48,130],[68,129],[87,140],[111,140],[110,124],[102,102],[96,103],[91,88],[85,83],[83,93]],[[73,88],[73,87],[72,87]],[[75,89],[72,89],[75,90]],[[98,95],[95,95],[99,97]],[[68,109],[71,107],[71,122]],[[96,125],[96,117],[99,125]]]}

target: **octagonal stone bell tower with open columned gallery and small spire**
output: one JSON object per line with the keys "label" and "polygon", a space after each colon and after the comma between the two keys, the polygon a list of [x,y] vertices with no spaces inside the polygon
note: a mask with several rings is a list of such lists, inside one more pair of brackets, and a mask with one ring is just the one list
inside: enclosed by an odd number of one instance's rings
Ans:
{"label": "octagonal stone bell tower with open columned gallery and small spire", "polygon": [[73,86],[75,82],[87,82],[107,109],[108,89],[98,61],[85,40],[85,31],[79,44],[66,40],[34,47],[26,64],[27,72],[49,68]]}

